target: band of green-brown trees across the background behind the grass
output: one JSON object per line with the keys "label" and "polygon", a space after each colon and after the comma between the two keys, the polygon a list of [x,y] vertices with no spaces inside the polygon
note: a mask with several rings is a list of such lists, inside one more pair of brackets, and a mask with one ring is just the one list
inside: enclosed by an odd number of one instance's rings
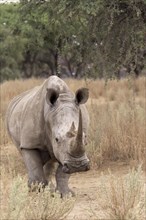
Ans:
{"label": "band of green-brown trees across the background behind the grass", "polygon": [[0,5],[1,80],[18,76],[138,75],[145,0],[21,0]]}

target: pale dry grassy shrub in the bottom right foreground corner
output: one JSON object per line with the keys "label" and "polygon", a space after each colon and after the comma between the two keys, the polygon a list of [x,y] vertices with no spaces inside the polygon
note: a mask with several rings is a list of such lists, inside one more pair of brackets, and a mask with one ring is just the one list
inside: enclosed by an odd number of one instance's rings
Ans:
{"label": "pale dry grassy shrub in the bottom right foreground corner", "polygon": [[[142,170],[130,170],[125,176],[117,178],[109,171],[102,174],[97,189],[97,206],[102,212],[94,219],[143,220],[145,219],[145,184]],[[96,217],[95,217],[96,216]]]}

